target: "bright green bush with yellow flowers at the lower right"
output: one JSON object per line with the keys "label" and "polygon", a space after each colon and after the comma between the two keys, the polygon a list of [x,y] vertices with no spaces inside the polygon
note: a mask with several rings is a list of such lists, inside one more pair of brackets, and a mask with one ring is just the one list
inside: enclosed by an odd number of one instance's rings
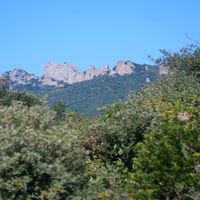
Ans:
{"label": "bright green bush with yellow flowers at the lower right", "polygon": [[137,147],[133,162],[136,199],[195,199],[198,194],[199,88],[198,95],[180,92],[177,99],[154,100],[160,125]]}

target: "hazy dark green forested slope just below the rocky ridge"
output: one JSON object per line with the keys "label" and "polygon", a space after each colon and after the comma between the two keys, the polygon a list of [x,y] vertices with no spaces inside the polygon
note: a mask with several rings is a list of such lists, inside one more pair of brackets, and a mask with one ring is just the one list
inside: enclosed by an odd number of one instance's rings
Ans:
{"label": "hazy dark green forested slope just below the rocky ridge", "polygon": [[[82,115],[97,115],[99,109],[116,101],[125,101],[128,93],[138,90],[146,84],[146,77],[154,81],[158,76],[158,68],[135,64],[134,74],[126,76],[101,76],[95,79],[66,85],[64,88],[40,87],[30,85],[21,85],[17,91],[27,91],[40,94],[47,98],[50,107],[54,107],[57,101],[63,101],[67,105],[68,111],[76,111]],[[109,95],[108,95],[109,94]]]}

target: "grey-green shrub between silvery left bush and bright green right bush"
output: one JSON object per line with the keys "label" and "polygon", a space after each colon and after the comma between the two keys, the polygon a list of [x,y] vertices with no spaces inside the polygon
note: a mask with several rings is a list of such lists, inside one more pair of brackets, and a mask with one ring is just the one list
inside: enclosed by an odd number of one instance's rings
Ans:
{"label": "grey-green shrub between silvery left bush and bright green right bush", "polygon": [[[181,84],[184,82],[184,85]],[[144,87],[131,93],[126,103],[115,103],[104,107],[99,123],[96,125],[98,146],[93,152],[101,152],[110,161],[119,159],[132,170],[132,158],[137,155],[135,145],[143,141],[144,134],[159,123],[157,108],[153,102],[163,99],[180,98],[177,92],[191,85],[190,78],[173,76],[158,80],[155,85]],[[196,89],[198,92],[198,89]],[[149,102],[149,103],[148,103]],[[163,106],[159,105],[162,109]],[[164,108],[163,108],[164,109]]]}

